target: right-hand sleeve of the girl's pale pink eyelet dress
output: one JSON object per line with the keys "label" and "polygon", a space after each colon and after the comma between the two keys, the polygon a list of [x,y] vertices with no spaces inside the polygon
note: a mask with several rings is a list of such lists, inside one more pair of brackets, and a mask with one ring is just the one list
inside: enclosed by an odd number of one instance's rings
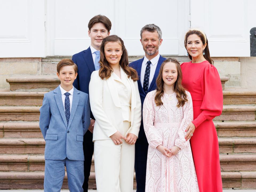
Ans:
{"label": "right-hand sleeve of the girl's pale pink eyelet dress", "polygon": [[183,109],[183,118],[181,121],[181,125],[179,126],[178,130],[178,138],[175,139],[175,145],[181,149],[183,149],[187,144],[189,143],[189,140],[186,141],[185,135],[186,135],[186,128],[187,125],[193,121],[193,103],[192,103],[192,98],[191,95],[188,91],[187,93],[187,98],[188,102],[185,102],[184,106],[182,107]]}

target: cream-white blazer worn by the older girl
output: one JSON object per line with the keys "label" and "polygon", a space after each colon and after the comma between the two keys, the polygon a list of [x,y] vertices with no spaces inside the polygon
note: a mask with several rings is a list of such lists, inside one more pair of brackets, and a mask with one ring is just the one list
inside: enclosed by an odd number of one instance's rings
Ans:
{"label": "cream-white blazer worn by the older girl", "polygon": [[[125,73],[122,67],[120,68],[120,72]],[[111,139],[110,136],[117,131],[125,136],[128,133],[133,133],[138,137],[141,125],[141,99],[138,83],[131,77],[127,77],[127,79],[131,85],[131,127],[126,133],[123,133],[122,108],[113,75],[107,80],[102,80],[99,77],[99,70],[93,71],[91,74],[89,98],[91,111],[95,118],[93,141]]]}

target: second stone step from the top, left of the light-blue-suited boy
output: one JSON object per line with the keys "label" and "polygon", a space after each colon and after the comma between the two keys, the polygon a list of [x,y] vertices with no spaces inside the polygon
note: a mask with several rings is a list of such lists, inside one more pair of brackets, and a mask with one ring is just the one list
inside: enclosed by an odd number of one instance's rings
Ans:
{"label": "second stone step from the top, left of the light-blue-suited boy", "polygon": [[0,105],[41,106],[46,92],[0,91]]}

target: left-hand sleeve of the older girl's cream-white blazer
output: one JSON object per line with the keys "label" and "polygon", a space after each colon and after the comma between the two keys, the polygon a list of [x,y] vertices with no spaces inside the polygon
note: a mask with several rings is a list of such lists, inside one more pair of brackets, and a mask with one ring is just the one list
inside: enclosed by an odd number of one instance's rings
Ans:
{"label": "left-hand sleeve of the older girl's cream-white blazer", "polygon": [[105,110],[103,109],[103,81],[104,80],[99,77],[99,72],[93,71],[91,74],[91,81],[89,83],[90,106],[91,112],[93,113],[93,116],[98,122],[100,128],[107,137],[110,137],[117,132],[117,129],[110,122]]}

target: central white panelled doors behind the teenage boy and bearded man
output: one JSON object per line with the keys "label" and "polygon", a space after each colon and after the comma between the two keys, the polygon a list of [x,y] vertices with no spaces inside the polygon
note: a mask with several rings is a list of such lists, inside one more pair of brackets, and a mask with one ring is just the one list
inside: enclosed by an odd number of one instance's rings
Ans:
{"label": "central white panelled doors behind the teenage boy and bearded man", "polygon": [[155,0],[148,0],[147,3],[138,0],[109,0],[101,1],[101,6],[93,9],[93,1],[73,0],[70,3],[68,0],[55,0],[55,9],[48,12],[48,15],[55,17],[55,25],[48,29],[55,34],[51,37],[54,49],[48,54],[72,55],[87,49],[90,45],[87,24],[97,14],[106,15],[111,20],[110,34],[116,34],[124,40],[129,55],[144,54],[139,41],[140,30],[149,23],[155,23],[162,30],[161,54],[183,54],[184,50],[179,51],[179,34],[188,28],[187,1],[164,2],[161,5]]}

